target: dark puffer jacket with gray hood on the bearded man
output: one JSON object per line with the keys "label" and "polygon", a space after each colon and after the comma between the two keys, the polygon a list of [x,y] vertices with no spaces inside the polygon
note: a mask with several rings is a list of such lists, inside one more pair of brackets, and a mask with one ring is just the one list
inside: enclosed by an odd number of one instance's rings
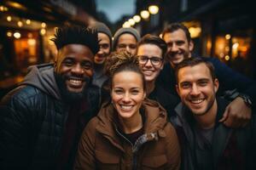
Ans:
{"label": "dark puffer jacket with gray hood on the bearded man", "polygon": [[[61,100],[52,65],[38,65],[27,77],[0,105],[0,169],[55,169],[72,105]],[[45,77],[50,77],[51,82]],[[95,88],[89,90],[87,110],[78,122],[71,155],[76,152],[85,124],[96,115],[97,92]],[[69,163],[72,167],[73,161]]]}

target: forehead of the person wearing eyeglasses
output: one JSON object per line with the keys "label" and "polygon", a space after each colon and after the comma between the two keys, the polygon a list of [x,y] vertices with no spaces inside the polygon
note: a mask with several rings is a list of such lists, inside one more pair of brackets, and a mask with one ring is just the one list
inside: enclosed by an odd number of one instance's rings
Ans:
{"label": "forehead of the person wearing eyeglasses", "polygon": [[162,50],[154,44],[143,44],[137,49],[137,55],[148,55],[162,58]]}

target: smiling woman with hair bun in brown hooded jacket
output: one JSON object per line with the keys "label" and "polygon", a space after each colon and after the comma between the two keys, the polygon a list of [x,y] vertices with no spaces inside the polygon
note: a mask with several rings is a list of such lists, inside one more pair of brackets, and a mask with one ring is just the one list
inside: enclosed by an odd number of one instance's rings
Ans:
{"label": "smiling woman with hair bun in brown hooded jacket", "polygon": [[74,169],[179,169],[177,134],[166,111],[145,99],[137,57],[115,53],[107,63],[112,102],[84,129]]}

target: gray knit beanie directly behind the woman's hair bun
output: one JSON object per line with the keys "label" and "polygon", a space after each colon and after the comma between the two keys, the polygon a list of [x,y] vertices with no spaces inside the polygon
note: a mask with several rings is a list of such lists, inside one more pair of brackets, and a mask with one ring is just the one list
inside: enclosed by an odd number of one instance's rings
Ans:
{"label": "gray knit beanie directly behind the woman's hair bun", "polygon": [[141,39],[140,33],[135,28],[132,28],[132,27],[119,28],[119,30],[116,31],[113,36],[113,50],[115,50],[115,48],[116,48],[119,37],[124,33],[129,33],[132,36],[134,36],[136,38],[137,42],[140,41],[140,39]]}

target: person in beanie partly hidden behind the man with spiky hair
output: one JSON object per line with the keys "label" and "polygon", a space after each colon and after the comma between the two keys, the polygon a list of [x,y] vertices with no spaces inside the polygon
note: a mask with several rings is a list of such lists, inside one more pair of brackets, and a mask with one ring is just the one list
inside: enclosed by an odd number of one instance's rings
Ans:
{"label": "person in beanie partly hidden behind the man with spiky hair", "polygon": [[108,77],[104,74],[103,67],[105,60],[111,52],[112,45],[112,33],[109,30],[108,26],[102,22],[96,22],[90,26],[90,28],[95,29],[98,32],[98,40],[100,50],[95,55],[94,58],[94,75],[92,83],[99,88],[102,88],[103,82],[105,82]]}

